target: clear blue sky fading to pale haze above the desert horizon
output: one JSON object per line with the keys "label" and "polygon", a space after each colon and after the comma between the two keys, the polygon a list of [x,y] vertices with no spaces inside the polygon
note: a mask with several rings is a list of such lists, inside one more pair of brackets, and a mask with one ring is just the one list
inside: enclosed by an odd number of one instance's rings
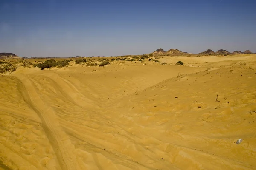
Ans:
{"label": "clear blue sky fading to pale haze above the desert horizon", "polygon": [[256,0],[0,0],[0,52],[117,56],[256,52]]}

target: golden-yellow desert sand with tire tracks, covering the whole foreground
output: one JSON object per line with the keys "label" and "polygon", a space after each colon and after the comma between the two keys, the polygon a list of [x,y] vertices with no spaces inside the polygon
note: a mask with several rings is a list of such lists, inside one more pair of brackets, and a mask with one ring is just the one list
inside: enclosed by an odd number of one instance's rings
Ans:
{"label": "golden-yellow desert sand with tire tracks, covering the whole foreground", "polygon": [[256,55],[158,60],[0,76],[0,169],[254,170]]}

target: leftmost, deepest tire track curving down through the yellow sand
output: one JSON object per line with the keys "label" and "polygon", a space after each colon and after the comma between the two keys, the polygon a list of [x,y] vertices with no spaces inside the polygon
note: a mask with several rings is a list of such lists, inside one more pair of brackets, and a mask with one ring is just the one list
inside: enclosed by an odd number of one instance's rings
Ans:
{"label": "leftmost, deepest tire track curving down through the yellow sand", "polygon": [[54,149],[62,170],[80,170],[76,163],[74,146],[58,123],[58,117],[44,104],[35,89],[35,84],[23,75],[17,75],[19,90],[25,102],[38,114],[42,126]]}

